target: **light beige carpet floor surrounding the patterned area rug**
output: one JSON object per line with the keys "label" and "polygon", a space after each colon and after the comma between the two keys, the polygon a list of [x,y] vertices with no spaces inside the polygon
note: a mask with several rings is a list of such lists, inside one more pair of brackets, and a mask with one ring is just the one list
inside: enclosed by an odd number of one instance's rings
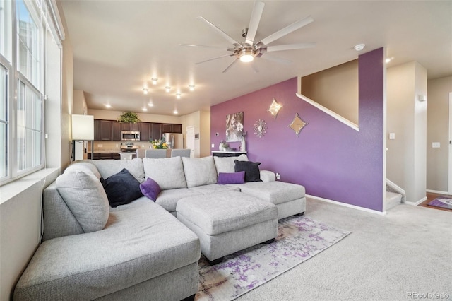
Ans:
{"label": "light beige carpet floor surrounding the patterned area rug", "polygon": [[379,216],[308,199],[306,216],[352,233],[237,300],[452,300],[451,212]]}

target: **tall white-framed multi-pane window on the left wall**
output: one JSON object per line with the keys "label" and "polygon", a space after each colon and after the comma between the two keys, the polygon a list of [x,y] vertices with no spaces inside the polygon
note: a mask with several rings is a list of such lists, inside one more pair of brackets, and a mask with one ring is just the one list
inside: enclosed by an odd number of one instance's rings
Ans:
{"label": "tall white-framed multi-pane window on the left wall", "polygon": [[[0,0],[0,184],[44,166],[44,83],[60,83],[61,76],[60,64],[51,72],[46,64],[59,63],[64,40],[53,5]],[[58,103],[60,95],[54,97]]]}

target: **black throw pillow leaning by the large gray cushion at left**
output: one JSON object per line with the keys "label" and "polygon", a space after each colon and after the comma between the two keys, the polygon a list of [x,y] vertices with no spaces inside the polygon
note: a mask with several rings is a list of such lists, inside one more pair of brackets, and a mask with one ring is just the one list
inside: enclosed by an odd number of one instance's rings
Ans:
{"label": "black throw pillow leaning by the large gray cushion at left", "polygon": [[108,202],[112,207],[125,205],[143,196],[140,182],[125,168],[107,179],[100,178],[100,182],[102,182]]}

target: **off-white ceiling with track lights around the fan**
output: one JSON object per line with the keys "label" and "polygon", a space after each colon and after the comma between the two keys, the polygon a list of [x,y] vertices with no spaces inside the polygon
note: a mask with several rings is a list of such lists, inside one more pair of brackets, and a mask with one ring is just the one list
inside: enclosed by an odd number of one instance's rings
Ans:
{"label": "off-white ceiling with track lights around the fan", "polygon": [[[62,0],[74,57],[74,89],[85,91],[90,109],[179,115],[295,76],[305,76],[386,47],[388,66],[418,61],[428,78],[452,75],[452,1],[264,1],[255,41],[311,15],[314,22],[270,45],[316,42],[313,49],[273,52],[292,64],[263,58],[251,66],[223,57],[232,47],[198,16],[242,42],[254,1]],[[357,52],[353,47],[364,43]],[[250,63],[248,63],[250,64]],[[152,85],[150,78],[158,78]],[[188,85],[196,85],[189,92]],[[149,94],[143,94],[148,85]],[[165,85],[172,90],[166,93]],[[175,93],[182,93],[177,100]]]}

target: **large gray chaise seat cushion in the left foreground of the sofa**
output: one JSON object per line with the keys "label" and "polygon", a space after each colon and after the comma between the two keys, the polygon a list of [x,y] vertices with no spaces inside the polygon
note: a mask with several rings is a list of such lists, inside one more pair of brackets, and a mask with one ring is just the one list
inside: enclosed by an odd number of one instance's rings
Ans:
{"label": "large gray chaise seat cushion in the left foreground of the sofa", "polygon": [[[108,298],[118,290],[196,263],[200,255],[198,237],[191,230],[141,197],[112,208],[102,231],[43,242],[18,281],[14,299]],[[134,300],[133,296],[131,292],[122,299]]]}

